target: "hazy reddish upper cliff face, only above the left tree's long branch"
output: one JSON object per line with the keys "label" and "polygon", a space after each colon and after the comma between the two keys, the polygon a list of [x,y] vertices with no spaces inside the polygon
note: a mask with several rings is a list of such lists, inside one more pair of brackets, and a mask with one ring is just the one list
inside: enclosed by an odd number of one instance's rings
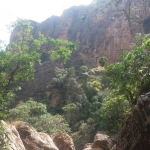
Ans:
{"label": "hazy reddish upper cliff face, only above the left tree's long branch", "polygon": [[[112,12],[109,12],[102,17],[98,15],[100,12],[97,12],[95,5],[73,6],[65,10],[61,17],[52,16],[41,23],[32,21],[33,34],[36,36],[40,31],[46,37],[79,42],[78,49],[67,63],[69,66],[85,64],[96,67],[104,55],[108,56],[109,62],[114,62],[121,50],[129,48],[127,21],[122,14],[112,16]],[[10,38],[12,41],[13,34]]]}

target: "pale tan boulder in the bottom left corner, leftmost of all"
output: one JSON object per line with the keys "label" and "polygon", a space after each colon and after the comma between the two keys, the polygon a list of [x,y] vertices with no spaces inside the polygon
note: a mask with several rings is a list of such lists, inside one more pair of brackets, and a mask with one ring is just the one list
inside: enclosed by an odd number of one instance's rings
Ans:
{"label": "pale tan boulder in the bottom left corner, leftmost of all", "polygon": [[[6,135],[3,135],[5,144],[9,145],[8,150],[26,150],[15,126],[9,125],[4,121],[0,122],[5,129]],[[3,149],[3,146],[0,147]]]}

